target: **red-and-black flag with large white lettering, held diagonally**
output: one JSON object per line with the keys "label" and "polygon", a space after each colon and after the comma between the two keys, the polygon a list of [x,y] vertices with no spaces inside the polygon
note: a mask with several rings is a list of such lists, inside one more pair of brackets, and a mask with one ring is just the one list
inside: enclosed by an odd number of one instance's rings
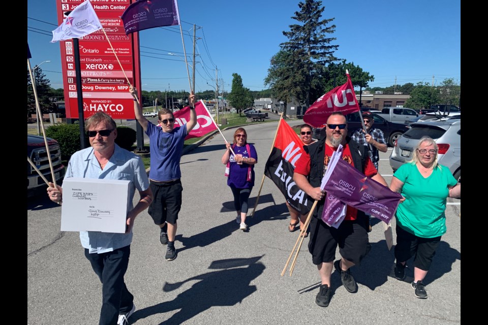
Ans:
{"label": "red-and-black flag with large white lettering, held diagonally", "polygon": [[281,120],[276,135],[275,146],[271,150],[264,175],[278,186],[285,196],[286,202],[300,214],[306,214],[312,207],[308,195],[296,186],[293,181],[293,170],[298,158],[307,154],[303,150],[303,142],[284,120]]}

